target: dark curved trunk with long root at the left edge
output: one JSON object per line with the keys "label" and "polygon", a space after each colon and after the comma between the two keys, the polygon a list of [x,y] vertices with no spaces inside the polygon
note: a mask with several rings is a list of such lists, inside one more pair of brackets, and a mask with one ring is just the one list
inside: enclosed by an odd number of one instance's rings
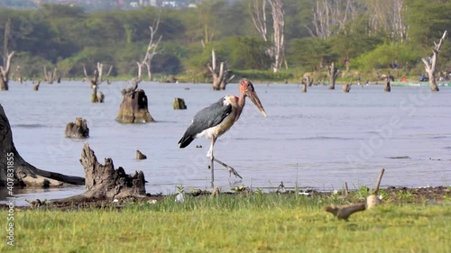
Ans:
{"label": "dark curved trunk with long root at the left edge", "polygon": [[0,104],[0,185],[22,186],[60,186],[84,185],[85,178],[66,176],[60,173],[41,170],[27,163],[14,147],[13,132]]}

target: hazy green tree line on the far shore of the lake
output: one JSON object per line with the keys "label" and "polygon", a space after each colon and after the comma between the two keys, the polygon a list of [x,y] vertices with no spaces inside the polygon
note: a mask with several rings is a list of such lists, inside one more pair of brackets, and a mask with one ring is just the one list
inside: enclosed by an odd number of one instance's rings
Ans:
{"label": "hazy green tree line on the far shore of the lake", "polygon": [[[82,77],[97,62],[113,65],[112,77],[136,76],[161,17],[159,48],[152,73],[204,81],[211,77],[211,51],[235,72],[260,71],[271,78],[274,44],[256,29],[255,5],[266,6],[267,32],[273,34],[271,0],[203,1],[197,8],[87,12],[78,6],[40,5],[37,9],[0,9],[0,41],[11,19],[10,50],[14,75],[37,78],[43,68],[60,76]],[[349,77],[391,72],[424,73],[421,58],[451,27],[451,3],[439,0],[284,0],[284,42],[279,77],[300,78],[335,62]],[[280,41],[279,41],[280,42]],[[451,68],[451,43],[443,43],[437,69]],[[20,66],[20,68],[18,68]],[[14,73],[15,71],[15,73]],[[449,72],[449,71],[447,71]],[[344,77],[345,77],[344,74]],[[386,74],[386,73],[385,73]],[[373,76],[371,76],[373,75]]]}

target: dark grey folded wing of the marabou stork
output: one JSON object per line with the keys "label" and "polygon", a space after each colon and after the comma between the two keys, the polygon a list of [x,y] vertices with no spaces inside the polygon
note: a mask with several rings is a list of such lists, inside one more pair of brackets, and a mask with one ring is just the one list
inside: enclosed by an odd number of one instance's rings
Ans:
{"label": "dark grey folded wing of the marabou stork", "polygon": [[226,118],[232,112],[231,104],[224,104],[225,97],[219,99],[215,104],[200,110],[193,118],[193,122],[179,140],[180,149],[183,149],[196,138],[198,133],[214,127]]}

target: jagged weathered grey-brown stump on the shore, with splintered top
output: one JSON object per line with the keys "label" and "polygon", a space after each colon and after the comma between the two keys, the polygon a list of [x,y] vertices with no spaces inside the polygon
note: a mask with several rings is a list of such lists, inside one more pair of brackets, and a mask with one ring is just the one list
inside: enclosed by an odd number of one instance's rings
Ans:
{"label": "jagged weathered grey-brown stump on the shore, with splintered top", "polygon": [[135,171],[133,176],[125,174],[123,167],[115,168],[111,158],[105,158],[105,164],[100,164],[94,150],[87,143],[81,150],[80,163],[85,170],[86,192],[54,202],[81,203],[94,200],[113,201],[128,197],[146,197],[144,186],[146,181],[143,171]]}

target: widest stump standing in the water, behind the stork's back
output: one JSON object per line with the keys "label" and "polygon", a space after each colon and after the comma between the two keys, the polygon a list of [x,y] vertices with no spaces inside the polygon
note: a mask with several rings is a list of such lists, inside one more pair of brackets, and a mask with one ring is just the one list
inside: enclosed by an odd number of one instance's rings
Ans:
{"label": "widest stump standing in the water, behind the stork's back", "polygon": [[116,121],[121,123],[155,122],[147,108],[147,96],[142,89],[125,93]]}

